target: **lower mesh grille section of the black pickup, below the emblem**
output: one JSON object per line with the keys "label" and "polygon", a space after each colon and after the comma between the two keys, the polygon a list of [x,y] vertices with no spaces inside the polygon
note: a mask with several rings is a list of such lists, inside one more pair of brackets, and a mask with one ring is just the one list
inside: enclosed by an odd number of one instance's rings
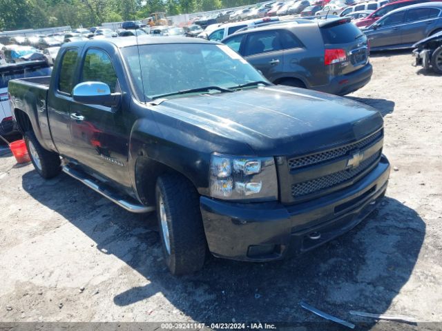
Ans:
{"label": "lower mesh grille section of the black pickup, below the emblem", "polygon": [[381,151],[362,161],[356,168],[341,170],[333,174],[327,174],[324,177],[291,185],[291,195],[294,198],[299,198],[350,181],[357,177],[358,174],[364,172],[364,170],[370,168],[371,165],[378,161],[379,157],[381,157]]}

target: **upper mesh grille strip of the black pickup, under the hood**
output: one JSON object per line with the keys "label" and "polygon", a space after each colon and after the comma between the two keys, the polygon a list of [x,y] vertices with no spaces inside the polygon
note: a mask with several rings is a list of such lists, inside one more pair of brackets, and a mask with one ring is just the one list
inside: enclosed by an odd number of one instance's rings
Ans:
{"label": "upper mesh grille strip of the black pickup, under the hood", "polygon": [[289,159],[289,169],[295,170],[298,168],[305,167],[307,165],[314,165],[318,163],[323,163],[325,161],[329,161],[331,159],[335,159],[336,157],[342,157],[349,150],[363,149],[365,146],[368,146],[375,140],[378,140],[382,137],[383,130],[379,130],[375,132],[371,136],[362,139],[360,141],[356,141],[356,143],[351,143],[347,146],[342,146],[339,148],[334,148],[333,150],[327,150],[325,152],[320,152],[316,154],[308,155],[307,157],[298,157],[294,159]]}

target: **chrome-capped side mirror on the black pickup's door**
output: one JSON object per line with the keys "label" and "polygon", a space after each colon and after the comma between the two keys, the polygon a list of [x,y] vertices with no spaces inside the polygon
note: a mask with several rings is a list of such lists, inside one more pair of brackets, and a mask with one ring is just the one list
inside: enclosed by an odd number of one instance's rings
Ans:
{"label": "chrome-capped side mirror on the black pickup's door", "polygon": [[111,93],[108,84],[101,81],[85,81],[72,90],[73,99],[86,105],[117,107],[122,99],[121,93]]}

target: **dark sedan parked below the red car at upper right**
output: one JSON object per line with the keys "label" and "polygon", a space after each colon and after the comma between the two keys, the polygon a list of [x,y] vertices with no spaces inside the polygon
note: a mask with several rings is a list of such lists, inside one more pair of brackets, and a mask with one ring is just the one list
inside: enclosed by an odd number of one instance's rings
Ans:
{"label": "dark sedan parked below the red car at upper right", "polygon": [[372,50],[412,48],[417,41],[442,31],[442,2],[398,8],[363,30]]}

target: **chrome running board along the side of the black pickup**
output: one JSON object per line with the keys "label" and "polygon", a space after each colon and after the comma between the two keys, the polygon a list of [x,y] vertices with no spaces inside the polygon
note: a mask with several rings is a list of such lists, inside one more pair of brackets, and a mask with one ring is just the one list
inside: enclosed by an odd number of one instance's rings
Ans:
{"label": "chrome running board along the side of the black pickup", "polygon": [[142,205],[131,197],[123,198],[117,192],[111,191],[110,188],[105,188],[99,185],[99,182],[96,179],[93,179],[93,177],[90,177],[85,172],[82,172],[81,170],[74,170],[73,168],[70,168],[69,165],[64,165],[63,172],[68,174],[70,177],[81,181],[81,183],[84,183],[84,185],[88,186],[88,188],[92,188],[95,192],[102,194],[103,197],[106,197],[128,212],[142,213],[153,212],[153,210],[155,210],[153,205]]}

